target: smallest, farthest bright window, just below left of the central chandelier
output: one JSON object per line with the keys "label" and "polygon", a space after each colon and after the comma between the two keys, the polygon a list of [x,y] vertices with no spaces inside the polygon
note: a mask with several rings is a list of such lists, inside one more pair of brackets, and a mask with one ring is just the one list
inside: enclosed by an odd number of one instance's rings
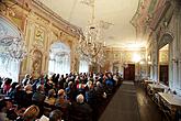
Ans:
{"label": "smallest, farthest bright window, just below left of the central chandelier", "polygon": [[89,72],[89,63],[87,61],[80,61],[79,73],[88,73],[88,72]]}

